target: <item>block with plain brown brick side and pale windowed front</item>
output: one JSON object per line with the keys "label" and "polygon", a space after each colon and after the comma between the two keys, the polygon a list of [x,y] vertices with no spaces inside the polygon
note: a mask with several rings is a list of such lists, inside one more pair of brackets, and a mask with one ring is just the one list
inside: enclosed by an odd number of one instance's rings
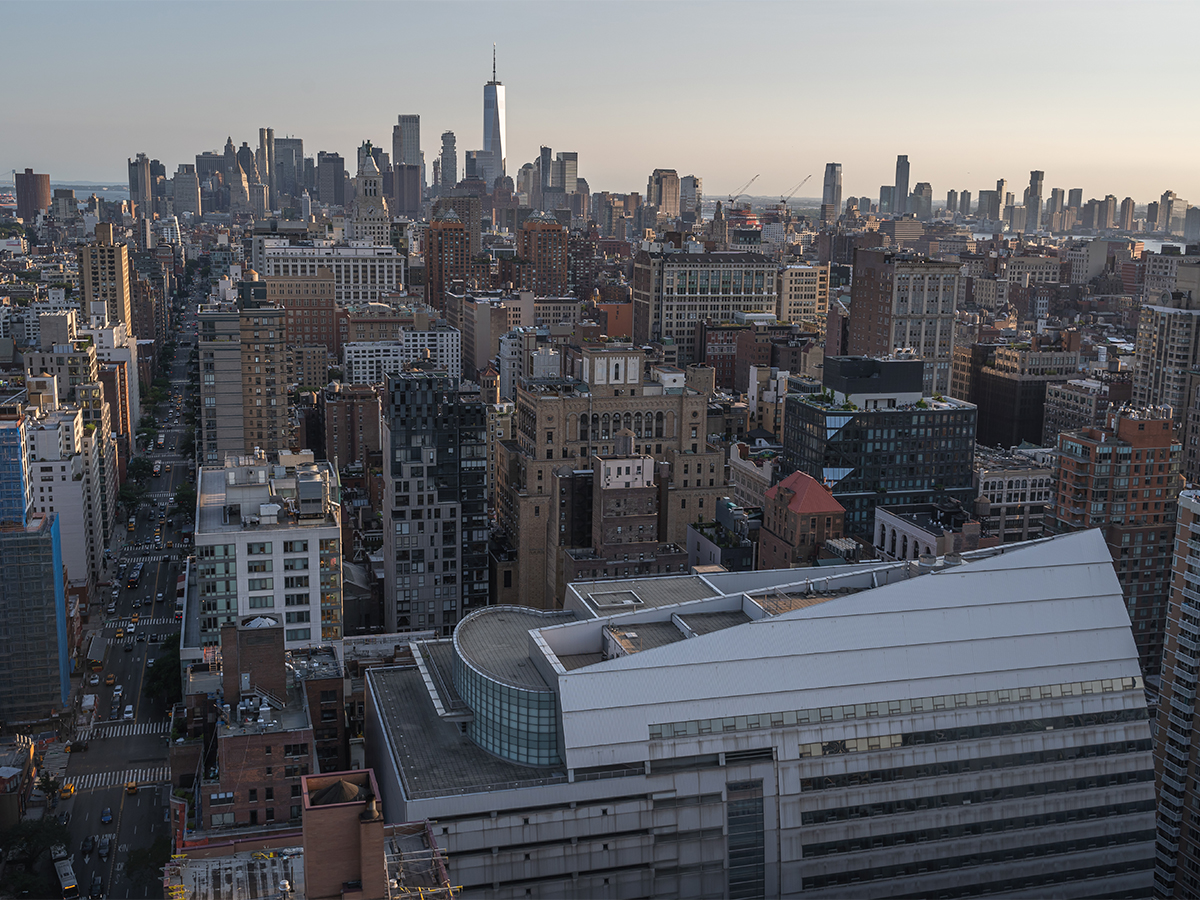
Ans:
{"label": "block with plain brown brick side and pale windowed front", "polygon": [[848,354],[911,350],[924,361],[925,392],[949,394],[958,283],[958,263],[856,250]]}

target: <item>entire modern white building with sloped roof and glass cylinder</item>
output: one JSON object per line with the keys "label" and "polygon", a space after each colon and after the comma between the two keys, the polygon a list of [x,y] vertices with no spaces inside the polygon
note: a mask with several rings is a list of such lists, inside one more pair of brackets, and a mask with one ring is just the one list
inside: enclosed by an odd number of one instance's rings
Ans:
{"label": "entire modern white building with sloped roof and glass cylinder", "polygon": [[410,647],[367,672],[367,762],[463,898],[1152,890],[1146,698],[1099,532],[580,583]]}

